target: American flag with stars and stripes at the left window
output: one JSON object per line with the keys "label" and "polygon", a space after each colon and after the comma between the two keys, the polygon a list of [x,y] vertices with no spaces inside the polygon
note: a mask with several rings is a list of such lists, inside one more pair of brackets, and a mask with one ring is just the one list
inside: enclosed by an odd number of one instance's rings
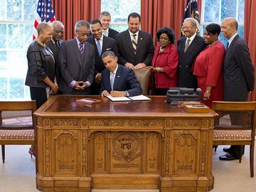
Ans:
{"label": "American flag with stars and stripes at the left window", "polygon": [[55,21],[55,14],[53,11],[51,0],[38,0],[36,19],[33,29],[33,40],[38,36],[38,33],[36,31],[38,24],[43,21],[48,23],[52,23],[53,21]]}

